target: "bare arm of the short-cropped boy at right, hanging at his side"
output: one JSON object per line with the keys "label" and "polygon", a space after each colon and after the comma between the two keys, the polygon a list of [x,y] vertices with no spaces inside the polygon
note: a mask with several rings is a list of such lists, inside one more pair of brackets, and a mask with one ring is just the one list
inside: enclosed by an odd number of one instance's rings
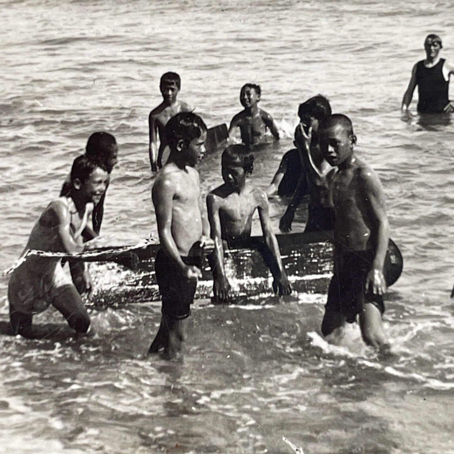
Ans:
{"label": "bare arm of the short-cropped boy at right, hanging at his side", "polygon": [[385,211],[385,194],[378,175],[370,168],[363,168],[360,177],[363,180],[364,198],[369,201],[369,216],[373,222],[375,232],[370,232],[376,237],[376,250],[372,269],[369,271],[365,282],[366,291],[372,286],[372,291],[382,295],[386,291],[383,265],[390,240],[390,224]]}

